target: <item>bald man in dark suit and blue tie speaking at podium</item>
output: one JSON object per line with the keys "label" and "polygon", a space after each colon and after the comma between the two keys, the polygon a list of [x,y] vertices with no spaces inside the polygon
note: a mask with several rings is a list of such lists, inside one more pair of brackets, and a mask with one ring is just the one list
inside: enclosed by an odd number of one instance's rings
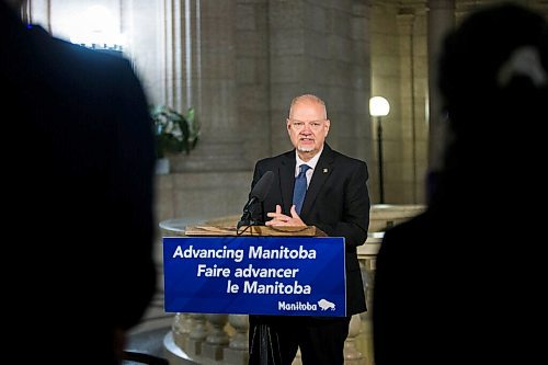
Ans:
{"label": "bald man in dark suit and blue tie speaking at podium", "polygon": [[[253,219],[267,226],[316,226],[328,236],[345,238],[349,317],[250,316],[250,364],[289,365],[298,347],[305,365],[343,364],[351,316],[366,310],[356,248],[365,242],[369,225],[367,166],[326,144],[330,126],[318,96],[293,100],[286,127],[295,149],[256,162],[252,187],[266,171],[274,179],[266,198],[253,207]],[[308,166],[308,189],[300,202],[294,186],[302,164]],[[260,343],[264,332],[270,337],[267,351]]]}

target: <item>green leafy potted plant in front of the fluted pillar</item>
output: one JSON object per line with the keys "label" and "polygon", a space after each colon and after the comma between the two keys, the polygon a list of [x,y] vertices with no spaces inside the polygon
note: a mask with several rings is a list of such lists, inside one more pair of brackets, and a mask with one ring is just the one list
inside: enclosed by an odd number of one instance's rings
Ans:
{"label": "green leafy potted plant in front of the fluted pillar", "polygon": [[[150,115],[155,123],[156,156],[159,173],[169,172],[169,155],[190,153],[196,146],[199,126],[194,118],[194,110],[189,109],[186,116],[167,105],[153,105]],[[168,171],[165,167],[167,164]]]}

